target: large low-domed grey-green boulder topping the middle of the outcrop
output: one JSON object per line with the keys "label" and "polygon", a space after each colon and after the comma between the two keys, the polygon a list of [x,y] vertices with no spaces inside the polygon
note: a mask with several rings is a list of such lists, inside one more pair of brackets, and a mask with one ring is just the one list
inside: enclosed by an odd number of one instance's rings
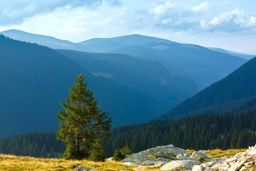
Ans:
{"label": "large low-domed grey-green boulder topping the middle of the outcrop", "polygon": [[140,153],[155,156],[156,158],[175,158],[178,154],[182,156],[189,155],[186,150],[174,147],[173,145],[157,146],[141,151]]}

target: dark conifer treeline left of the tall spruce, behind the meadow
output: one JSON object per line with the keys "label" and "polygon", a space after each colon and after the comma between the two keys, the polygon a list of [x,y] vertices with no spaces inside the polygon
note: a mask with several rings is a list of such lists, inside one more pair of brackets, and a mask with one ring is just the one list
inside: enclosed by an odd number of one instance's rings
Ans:
{"label": "dark conifer treeline left of the tall spruce, behind the meadow", "polygon": [[15,135],[0,139],[0,153],[18,156],[57,158],[65,151],[65,142],[57,141],[55,132]]}

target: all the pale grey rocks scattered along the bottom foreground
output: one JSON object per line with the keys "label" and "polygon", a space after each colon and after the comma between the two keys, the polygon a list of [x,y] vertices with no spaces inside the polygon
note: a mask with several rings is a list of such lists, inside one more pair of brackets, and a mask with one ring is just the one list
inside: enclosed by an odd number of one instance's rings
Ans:
{"label": "all the pale grey rocks scattered along the bottom foreground", "polygon": [[[173,145],[157,146],[139,153],[127,155],[121,162],[126,165],[138,164],[134,170],[157,167],[161,171],[255,171],[256,145],[235,156],[211,158],[204,151],[195,151],[190,155],[186,150]],[[75,171],[93,171],[87,167],[77,167]]]}

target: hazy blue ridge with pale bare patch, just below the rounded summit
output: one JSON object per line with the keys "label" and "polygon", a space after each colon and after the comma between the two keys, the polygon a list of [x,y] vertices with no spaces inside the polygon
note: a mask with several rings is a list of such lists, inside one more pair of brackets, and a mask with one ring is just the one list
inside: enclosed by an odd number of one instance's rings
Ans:
{"label": "hazy blue ridge with pale bare patch, just below the rounded summit", "polygon": [[132,46],[110,52],[160,61],[169,70],[191,77],[199,90],[226,77],[247,61],[202,46],[172,42]]}

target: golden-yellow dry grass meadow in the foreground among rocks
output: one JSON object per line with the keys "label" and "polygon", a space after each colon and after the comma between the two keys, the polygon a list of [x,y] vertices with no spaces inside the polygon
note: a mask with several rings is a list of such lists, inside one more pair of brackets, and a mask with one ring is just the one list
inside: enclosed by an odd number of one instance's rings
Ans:
{"label": "golden-yellow dry grass meadow in the foreground among rocks", "polygon": [[[216,157],[234,156],[246,149],[220,149],[207,150],[206,153]],[[193,150],[187,150],[193,153]],[[74,171],[78,166],[85,166],[97,171],[134,170],[138,165],[126,166],[117,161],[93,162],[88,160],[63,160],[52,158],[32,158],[0,154],[0,171]],[[159,168],[147,168],[144,170],[160,171]]]}

